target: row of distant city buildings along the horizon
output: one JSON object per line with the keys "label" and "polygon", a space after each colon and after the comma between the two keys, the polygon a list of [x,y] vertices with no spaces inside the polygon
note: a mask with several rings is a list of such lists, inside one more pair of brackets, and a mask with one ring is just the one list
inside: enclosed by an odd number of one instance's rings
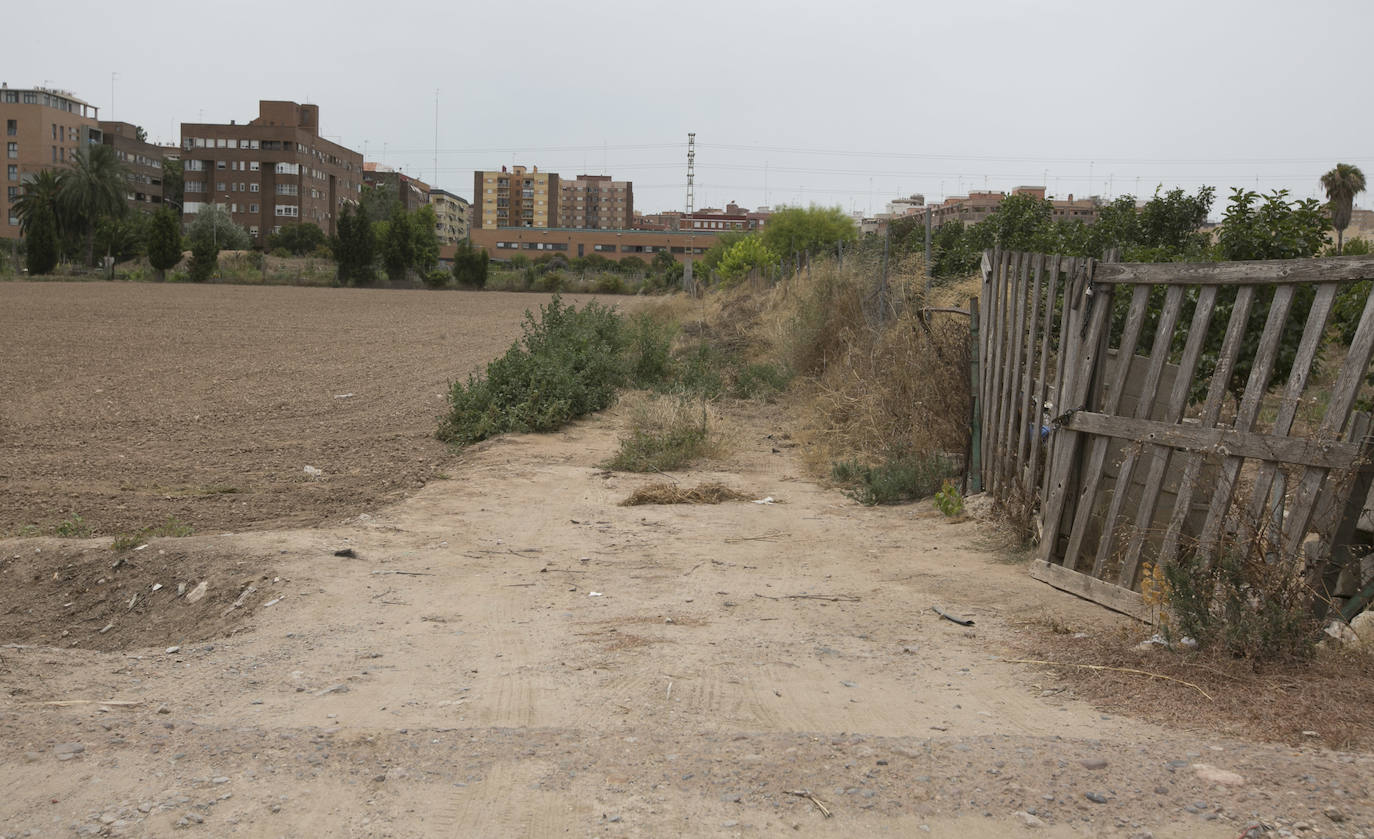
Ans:
{"label": "row of distant city buildings along the horizon", "polygon": [[[228,124],[183,122],[180,143],[148,143],[131,122],[104,121],[99,108],[74,93],[45,87],[0,84],[0,119],[5,126],[5,191],[0,202],[0,239],[19,238],[15,200],[27,177],[66,168],[84,144],[106,144],[128,166],[128,202],[139,210],[172,205],[194,216],[216,205],[243,227],[257,244],[289,222],[311,222],[326,233],[345,203],[357,203],[364,187],[392,192],[408,211],[430,206],[441,257],[470,239],[495,260],[532,251],[566,257],[599,254],[610,260],[661,251],[675,258],[705,253],[721,233],[757,232],[771,207],[734,202],[694,211],[635,207],[633,183],[609,174],[561,177],[536,165],[500,166],[473,173],[471,199],[427,184],[320,135],[317,104],[261,100],[256,118]],[[168,194],[164,161],[180,161],[181,194]],[[1094,224],[1099,196],[1047,196],[1046,187],[1017,187],[1013,195],[1051,202],[1055,220]],[[883,213],[853,220],[861,233],[881,235],[893,218],[930,217],[932,228],[948,221],[977,224],[1007,198],[1000,191],[970,191],[926,203],[919,194],[888,202]],[[180,200],[180,205],[177,205]],[[1352,235],[1374,229],[1374,213],[1356,210]]]}

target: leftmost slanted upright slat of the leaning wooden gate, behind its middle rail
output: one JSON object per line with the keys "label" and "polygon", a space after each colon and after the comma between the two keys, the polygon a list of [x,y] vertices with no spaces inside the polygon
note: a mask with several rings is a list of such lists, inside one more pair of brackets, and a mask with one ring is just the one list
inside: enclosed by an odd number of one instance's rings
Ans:
{"label": "leftmost slanted upright slat of the leaning wooden gate, behind its middle rail", "polygon": [[[1079,279],[1074,286],[1083,291],[1076,297],[1083,298],[1087,295],[1088,277],[1092,276],[1095,265],[1095,260],[1084,260],[1080,264]],[[1069,349],[1065,363],[1072,364],[1072,371],[1069,375],[1069,390],[1068,393],[1061,394],[1059,400],[1063,411],[1068,411],[1069,406],[1083,405],[1087,401],[1088,391],[1092,387],[1092,371],[1098,364],[1098,357],[1102,352],[1102,338],[1112,321],[1110,295],[1094,295],[1094,298],[1095,299],[1091,301],[1091,305],[1087,302],[1079,302],[1074,306],[1074,317],[1072,320],[1073,330],[1065,343]],[[1087,330],[1080,338],[1079,334],[1083,324],[1087,324]],[[1050,483],[1044,534],[1040,544],[1040,559],[1047,562],[1054,556],[1057,548],[1059,522],[1069,501],[1069,487],[1073,486],[1073,481],[1077,478],[1076,461],[1083,442],[1081,434],[1066,428],[1059,428],[1055,433],[1055,437],[1059,438],[1055,442],[1054,452],[1055,476]]]}

